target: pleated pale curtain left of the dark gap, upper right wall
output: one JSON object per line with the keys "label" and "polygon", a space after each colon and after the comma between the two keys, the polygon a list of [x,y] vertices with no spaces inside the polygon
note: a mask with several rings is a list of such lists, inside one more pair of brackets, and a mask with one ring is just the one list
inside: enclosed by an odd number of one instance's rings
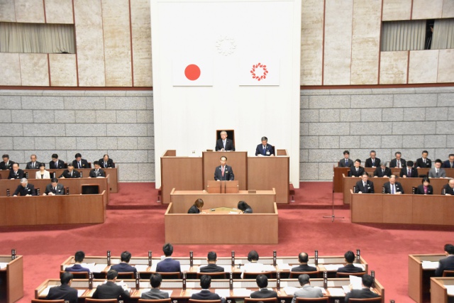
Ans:
{"label": "pleated pale curtain left of the dark gap, upper right wall", "polygon": [[382,23],[381,50],[384,52],[423,50],[425,39],[426,20]]}

